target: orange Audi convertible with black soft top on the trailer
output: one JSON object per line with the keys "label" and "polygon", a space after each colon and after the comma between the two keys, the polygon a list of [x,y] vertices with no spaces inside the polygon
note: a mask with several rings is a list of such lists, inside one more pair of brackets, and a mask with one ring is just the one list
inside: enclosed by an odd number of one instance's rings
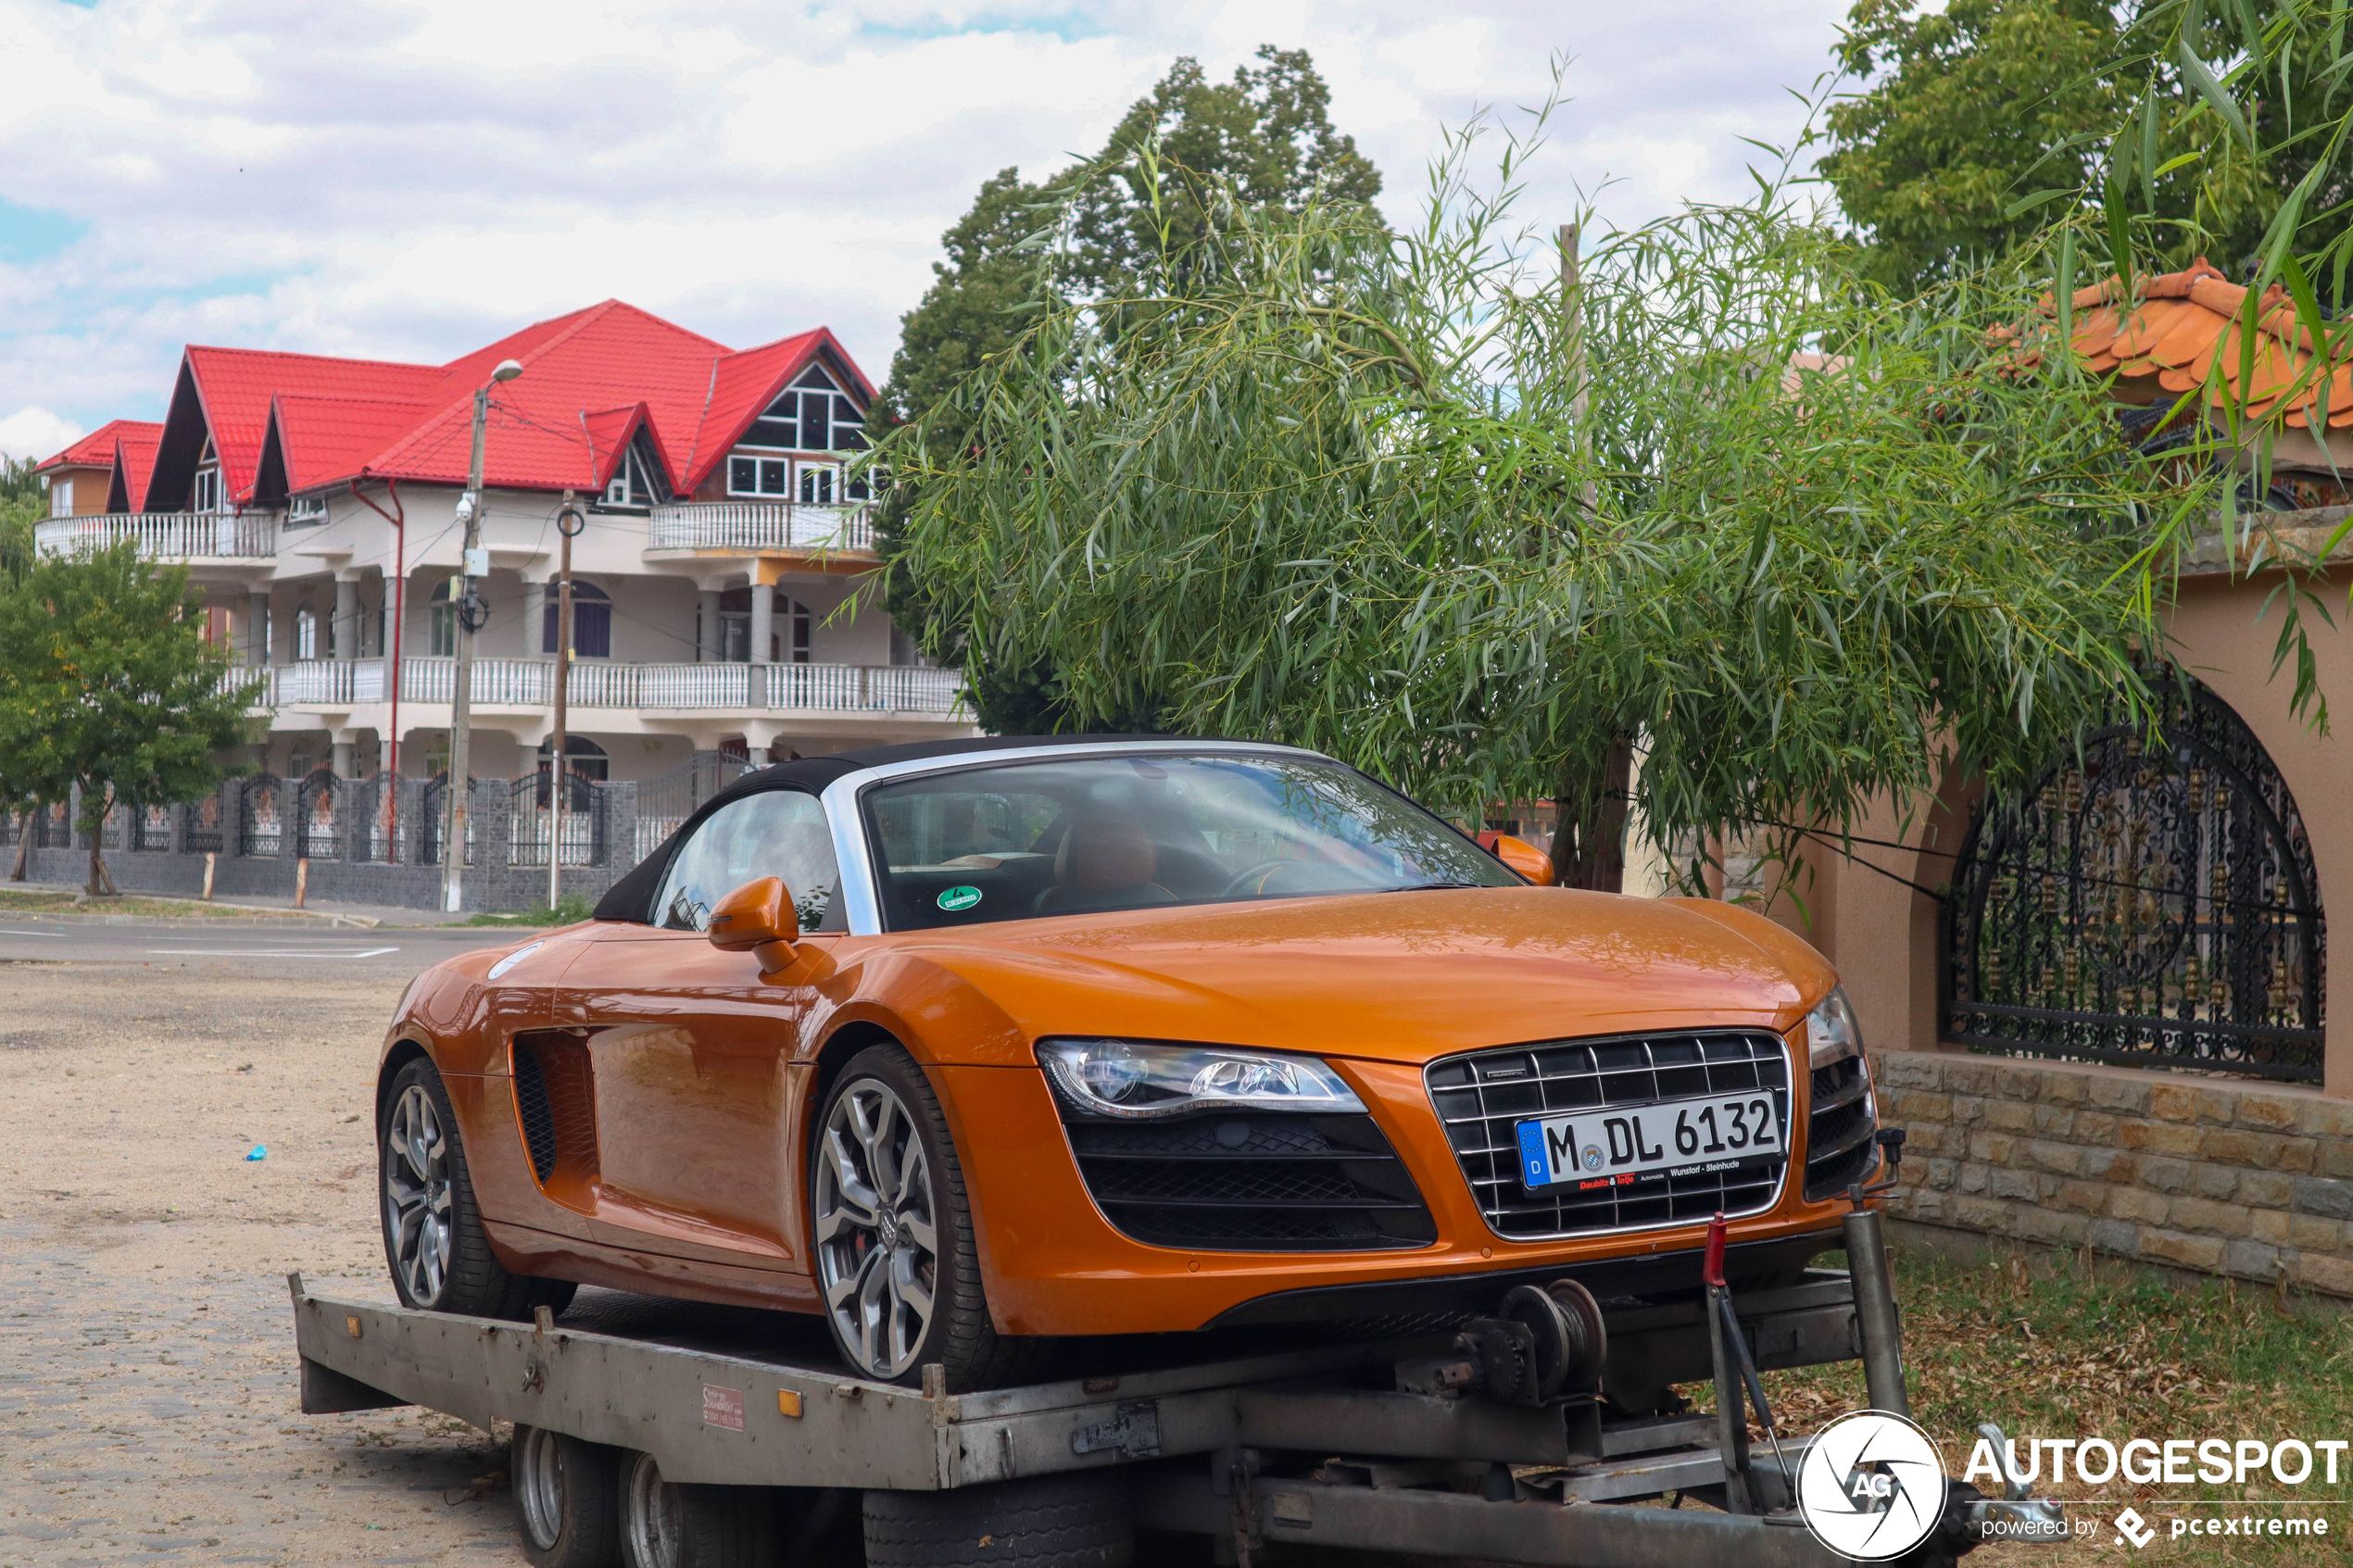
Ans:
{"label": "orange Audi convertible with black soft top on the trailer", "polygon": [[1840,1246],[1880,1152],[1831,966],[1499,851],[1285,745],[748,773],[595,919],[409,987],[400,1298],[814,1312],[967,1389],[1064,1335],[1687,1291],[1715,1213],[1751,1281]]}

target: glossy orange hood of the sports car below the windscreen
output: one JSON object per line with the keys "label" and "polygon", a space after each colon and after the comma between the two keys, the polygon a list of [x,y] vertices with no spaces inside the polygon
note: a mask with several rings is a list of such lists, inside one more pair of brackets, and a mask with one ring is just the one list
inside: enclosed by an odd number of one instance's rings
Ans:
{"label": "glossy orange hood of the sports car below the windscreen", "polygon": [[1374,1060],[1661,1027],[1791,1027],[1831,966],[1720,903],[1442,889],[882,938],[1031,1039],[1127,1034]]}

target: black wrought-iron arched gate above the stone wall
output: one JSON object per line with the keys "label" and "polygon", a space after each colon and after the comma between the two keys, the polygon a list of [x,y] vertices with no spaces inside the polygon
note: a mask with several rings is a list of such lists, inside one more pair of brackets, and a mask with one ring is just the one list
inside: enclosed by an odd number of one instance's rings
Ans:
{"label": "black wrought-iron arched gate above the stone wall", "polygon": [[2271,757],[2195,679],[2158,743],[1988,799],[1946,900],[1941,1025],[1979,1051],[2320,1081],[2327,929],[2304,818]]}

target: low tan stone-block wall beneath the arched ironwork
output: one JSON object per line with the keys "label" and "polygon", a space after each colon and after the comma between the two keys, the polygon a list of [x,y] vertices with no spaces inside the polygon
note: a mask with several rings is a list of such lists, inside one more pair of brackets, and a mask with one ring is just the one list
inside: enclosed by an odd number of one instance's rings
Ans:
{"label": "low tan stone-block wall beneath the arched ironwork", "polygon": [[1875,1051],[1889,1213],[2353,1295],[2353,1103],[2318,1088]]}

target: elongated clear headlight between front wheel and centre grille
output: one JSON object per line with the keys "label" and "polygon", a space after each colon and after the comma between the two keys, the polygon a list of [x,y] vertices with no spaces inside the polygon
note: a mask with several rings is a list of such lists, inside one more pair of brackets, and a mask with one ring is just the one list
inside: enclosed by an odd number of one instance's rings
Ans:
{"label": "elongated clear headlight between front wheel and centre grille", "polygon": [[1313,1056],[1148,1046],[1132,1039],[1042,1039],[1038,1060],[1073,1105],[1096,1117],[1195,1110],[1362,1112],[1365,1103]]}

